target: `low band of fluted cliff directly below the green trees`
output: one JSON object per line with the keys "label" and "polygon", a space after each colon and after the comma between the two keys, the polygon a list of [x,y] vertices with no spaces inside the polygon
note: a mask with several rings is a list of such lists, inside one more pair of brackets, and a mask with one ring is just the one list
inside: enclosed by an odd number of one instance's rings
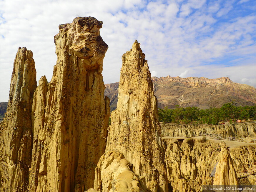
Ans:
{"label": "low band of fluted cliff directly below the green trees", "polygon": [[224,137],[256,137],[255,123],[235,123],[225,125],[177,125],[161,124],[163,137],[192,137],[200,133],[220,134]]}

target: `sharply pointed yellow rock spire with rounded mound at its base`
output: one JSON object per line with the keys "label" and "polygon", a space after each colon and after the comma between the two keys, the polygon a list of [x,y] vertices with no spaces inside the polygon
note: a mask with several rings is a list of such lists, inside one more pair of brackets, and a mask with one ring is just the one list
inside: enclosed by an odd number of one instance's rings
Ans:
{"label": "sharply pointed yellow rock spire with rounded mound at its base", "polygon": [[[122,56],[122,61],[119,100],[111,114],[106,153],[97,165],[94,188],[115,191],[123,183],[124,191],[133,185],[132,191],[138,191],[139,187],[144,191],[168,191],[157,98],[145,54],[137,40]],[[126,167],[119,174],[118,163]],[[127,175],[134,180],[133,184],[121,182]],[[137,179],[141,186],[136,184]]]}

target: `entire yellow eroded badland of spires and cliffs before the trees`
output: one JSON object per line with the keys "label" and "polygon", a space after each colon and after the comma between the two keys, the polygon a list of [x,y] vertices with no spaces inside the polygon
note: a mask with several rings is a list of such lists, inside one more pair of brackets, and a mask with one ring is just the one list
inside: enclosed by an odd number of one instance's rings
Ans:
{"label": "entire yellow eroded badland of spires and cliffs before the trees", "polygon": [[[38,86],[32,51],[18,49],[0,123],[0,191],[194,192],[255,184],[255,123],[161,127],[156,80],[137,40],[122,56],[108,124],[102,25],[94,17],[59,25],[52,79],[42,76]],[[230,137],[238,139],[225,141]]]}

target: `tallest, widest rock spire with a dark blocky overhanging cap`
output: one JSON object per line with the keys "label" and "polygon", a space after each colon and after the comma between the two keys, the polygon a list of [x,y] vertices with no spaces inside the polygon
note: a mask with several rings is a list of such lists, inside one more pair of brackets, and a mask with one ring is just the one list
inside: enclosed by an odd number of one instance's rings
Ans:
{"label": "tallest, widest rock spire with a dark blocky overhanging cap", "polygon": [[77,17],[59,25],[57,63],[47,83],[39,81],[33,101],[32,191],[83,192],[106,146],[109,99],[104,98],[102,21]]}

